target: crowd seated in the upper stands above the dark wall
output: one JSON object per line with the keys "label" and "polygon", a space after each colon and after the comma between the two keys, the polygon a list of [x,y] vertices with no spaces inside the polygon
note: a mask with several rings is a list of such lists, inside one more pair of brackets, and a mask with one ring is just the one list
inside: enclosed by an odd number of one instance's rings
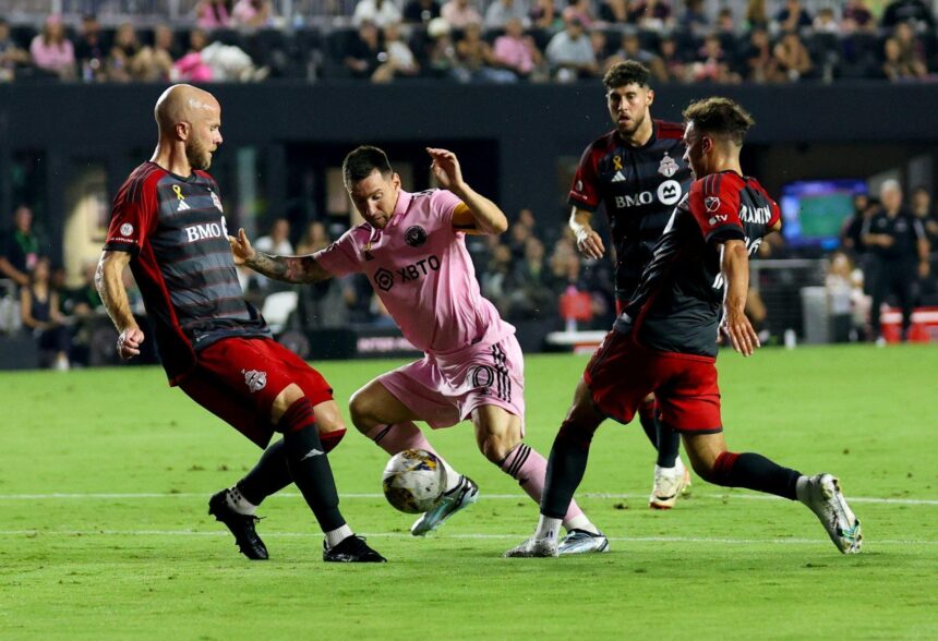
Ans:
{"label": "crowd seated in the upper stands above the dark wall", "polygon": [[94,14],[0,16],[0,81],[565,83],[622,59],[657,83],[909,82],[938,71],[925,0],[892,0],[878,15],[867,0],[323,0],[291,15],[278,5],[193,0],[175,20],[108,15],[106,27]]}

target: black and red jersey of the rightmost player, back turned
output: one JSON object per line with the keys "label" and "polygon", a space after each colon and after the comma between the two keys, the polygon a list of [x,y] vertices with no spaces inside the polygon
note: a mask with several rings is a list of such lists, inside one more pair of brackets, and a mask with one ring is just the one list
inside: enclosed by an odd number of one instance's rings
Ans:
{"label": "black and red jersey of the rightmost player, back turned", "polygon": [[779,218],[778,204],[755,178],[722,171],[695,181],[615,328],[638,331],[638,341],[654,350],[715,356],[720,244],[744,240],[751,256]]}

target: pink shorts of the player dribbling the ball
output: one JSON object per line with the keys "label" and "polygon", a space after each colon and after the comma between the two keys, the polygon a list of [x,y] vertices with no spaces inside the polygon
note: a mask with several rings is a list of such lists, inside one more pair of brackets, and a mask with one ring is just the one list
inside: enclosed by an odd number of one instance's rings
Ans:
{"label": "pink shorts of the player dribbling the ball", "polygon": [[378,377],[378,382],[434,430],[465,421],[481,406],[521,419],[525,432],[525,361],[515,335],[431,355]]}

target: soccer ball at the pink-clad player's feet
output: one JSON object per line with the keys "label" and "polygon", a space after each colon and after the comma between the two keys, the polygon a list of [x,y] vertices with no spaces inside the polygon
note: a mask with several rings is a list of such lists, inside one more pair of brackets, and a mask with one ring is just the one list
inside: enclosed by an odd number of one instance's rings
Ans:
{"label": "soccer ball at the pink-clad player's feet", "polygon": [[446,489],[446,469],[423,449],[396,453],[384,468],[384,496],[396,509],[419,515],[432,509]]}

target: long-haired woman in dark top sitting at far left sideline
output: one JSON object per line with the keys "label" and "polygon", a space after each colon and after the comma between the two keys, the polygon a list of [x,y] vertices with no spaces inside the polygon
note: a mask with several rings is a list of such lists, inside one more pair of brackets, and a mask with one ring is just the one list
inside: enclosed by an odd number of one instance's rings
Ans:
{"label": "long-haired woman in dark top sitting at far left sideline", "polygon": [[71,332],[59,312],[59,293],[52,289],[49,259],[36,262],[27,287],[20,290],[20,315],[23,328],[36,337],[40,352],[55,354],[57,370],[69,368]]}

